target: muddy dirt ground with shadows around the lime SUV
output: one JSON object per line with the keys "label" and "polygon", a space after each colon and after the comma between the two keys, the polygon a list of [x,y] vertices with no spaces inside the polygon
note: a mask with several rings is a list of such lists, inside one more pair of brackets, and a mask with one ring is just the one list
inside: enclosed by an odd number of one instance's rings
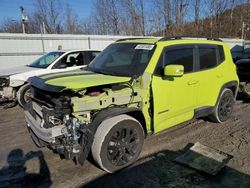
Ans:
{"label": "muddy dirt ground with shadows around the lime SUV", "polygon": [[[234,158],[216,176],[174,162],[198,141]],[[0,187],[250,187],[249,156],[250,103],[242,101],[224,124],[197,120],[148,138],[139,161],[113,175],[36,148],[22,109],[0,110]]]}

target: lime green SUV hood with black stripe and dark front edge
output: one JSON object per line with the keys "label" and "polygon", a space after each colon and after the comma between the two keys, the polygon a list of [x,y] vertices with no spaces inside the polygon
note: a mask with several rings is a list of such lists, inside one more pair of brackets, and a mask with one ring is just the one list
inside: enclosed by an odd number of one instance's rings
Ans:
{"label": "lime green SUV hood with black stripe and dark front edge", "polygon": [[31,85],[46,91],[61,92],[65,89],[81,90],[88,87],[124,83],[130,77],[104,75],[89,71],[76,70],[65,73],[47,74],[40,77],[31,77]]}

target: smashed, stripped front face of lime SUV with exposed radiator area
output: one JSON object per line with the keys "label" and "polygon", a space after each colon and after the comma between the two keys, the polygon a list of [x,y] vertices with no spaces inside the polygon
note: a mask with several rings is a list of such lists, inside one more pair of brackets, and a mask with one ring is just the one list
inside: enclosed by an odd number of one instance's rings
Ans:
{"label": "smashed, stripped front face of lime SUV with exposed radiator area", "polygon": [[25,116],[35,144],[47,146],[67,159],[78,157],[80,128],[84,124],[72,117],[70,96],[38,88],[32,88],[32,95],[32,101],[25,106]]}

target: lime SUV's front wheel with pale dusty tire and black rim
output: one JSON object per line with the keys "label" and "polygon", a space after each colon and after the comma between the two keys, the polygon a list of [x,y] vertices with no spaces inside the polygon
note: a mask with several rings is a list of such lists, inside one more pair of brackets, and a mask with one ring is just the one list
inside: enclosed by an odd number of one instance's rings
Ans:
{"label": "lime SUV's front wheel with pale dusty tire and black rim", "polygon": [[141,124],[128,115],[104,120],[91,147],[92,155],[105,171],[113,173],[137,160],[144,141]]}

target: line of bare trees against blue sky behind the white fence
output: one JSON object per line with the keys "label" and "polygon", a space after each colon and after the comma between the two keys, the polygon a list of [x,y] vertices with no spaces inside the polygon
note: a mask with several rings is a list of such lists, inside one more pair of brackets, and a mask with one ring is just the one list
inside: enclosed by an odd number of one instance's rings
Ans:
{"label": "line of bare trees against blue sky behind the white fence", "polygon": [[[44,25],[47,33],[250,37],[250,0],[95,0],[85,20],[61,0],[34,1],[28,33]],[[3,20],[0,31],[21,32],[20,22]]]}

